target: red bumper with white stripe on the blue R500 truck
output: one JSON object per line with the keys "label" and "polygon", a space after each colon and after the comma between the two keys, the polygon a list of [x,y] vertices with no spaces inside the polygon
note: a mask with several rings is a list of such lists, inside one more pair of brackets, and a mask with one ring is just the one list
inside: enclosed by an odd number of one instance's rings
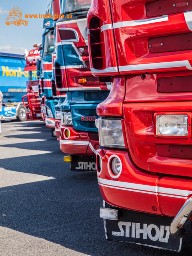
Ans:
{"label": "red bumper with white stripe on the blue R500 truck", "polygon": [[60,127],[60,149],[64,154],[95,156],[98,148],[97,132],[78,132],[72,126]]}

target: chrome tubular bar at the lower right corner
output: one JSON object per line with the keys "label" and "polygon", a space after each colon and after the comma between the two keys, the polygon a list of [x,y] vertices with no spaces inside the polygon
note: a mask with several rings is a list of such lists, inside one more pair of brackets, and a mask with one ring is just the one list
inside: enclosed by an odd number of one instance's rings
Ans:
{"label": "chrome tubular bar at the lower right corner", "polygon": [[186,200],[170,225],[170,234],[175,238],[186,236],[184,224],[192,214],[192,196]]}

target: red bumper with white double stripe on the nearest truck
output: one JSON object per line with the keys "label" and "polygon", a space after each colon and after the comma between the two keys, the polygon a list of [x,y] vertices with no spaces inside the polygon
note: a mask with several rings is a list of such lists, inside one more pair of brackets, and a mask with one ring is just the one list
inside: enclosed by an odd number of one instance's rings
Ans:
{"label": "red bumper with white double stripe on the nearest truck", "polygon": [[[102,197],[108,204],[174,217],[192,196],[190,179],[162,177],[146,172],[134,165],[129,152],[98,149],[97,155],[98,183]],[[118,177],[111,172],[110,161],[114,156],[118,156],[122,163]],[[101,169],[98,167],[99,157],[102,158]]]}

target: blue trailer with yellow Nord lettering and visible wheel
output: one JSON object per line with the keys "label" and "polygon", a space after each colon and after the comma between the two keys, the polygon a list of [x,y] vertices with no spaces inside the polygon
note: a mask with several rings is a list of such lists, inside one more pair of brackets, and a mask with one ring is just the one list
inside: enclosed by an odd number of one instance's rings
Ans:
{"label": "blue trailer with yellow Nord lettering and visible wheel", "polygon": [[24,55],[0,53],[0,90],[3,93],[3,109],[0,120],[26,120],[27,109],[22,96],[27,93],[28,71],[24,71]]}

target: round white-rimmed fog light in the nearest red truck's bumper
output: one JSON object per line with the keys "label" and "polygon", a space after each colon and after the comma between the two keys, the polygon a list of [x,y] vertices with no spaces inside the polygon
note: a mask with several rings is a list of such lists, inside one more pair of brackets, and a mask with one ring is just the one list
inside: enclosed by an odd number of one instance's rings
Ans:
{"label": "round white-rimmed fog light in the nearest red truck's bumper", "polygon": [[112,155],[108,160],[108,172],[112,178],[118,178],[122,171],[122,163],[118,156]]}

